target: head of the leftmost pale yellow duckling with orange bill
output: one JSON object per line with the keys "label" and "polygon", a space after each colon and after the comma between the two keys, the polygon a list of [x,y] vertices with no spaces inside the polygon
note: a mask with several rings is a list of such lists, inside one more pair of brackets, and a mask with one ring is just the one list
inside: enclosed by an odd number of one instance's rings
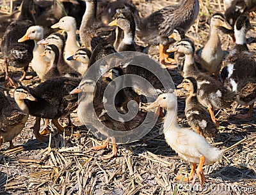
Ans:
{"label": "head of the leftmost pale yellow duckling with orange bill", "polygon": [[18,40],[18,42],[24,42],[26,40],[42,40],[44,36],[44,29],[40,25],[33,25],[28,28],[26,34]]}

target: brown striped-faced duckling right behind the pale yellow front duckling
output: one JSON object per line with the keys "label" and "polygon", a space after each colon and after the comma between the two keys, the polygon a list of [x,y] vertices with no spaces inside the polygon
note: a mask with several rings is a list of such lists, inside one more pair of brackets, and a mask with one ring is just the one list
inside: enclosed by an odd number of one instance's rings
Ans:
{"label": "brown striped-faced duckling right behind the pale yellow front duckling", "polygon": [[189,96],[186,98],[185,115],[189,126],[193,131],[206,137],[213,137],[218,133],[216,124],[212,122],[211,115],[207,109],[201,105],[196,97],[197,83],[195,78],[189,76],[184,78],[182,83],[177,88],[183,87],[189,91]]}

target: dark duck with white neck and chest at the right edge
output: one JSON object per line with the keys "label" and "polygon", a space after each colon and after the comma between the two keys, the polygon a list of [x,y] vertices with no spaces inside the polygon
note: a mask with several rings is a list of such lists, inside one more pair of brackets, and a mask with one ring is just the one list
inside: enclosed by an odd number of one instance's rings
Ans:
{"label": "dark duck with white neck and chest at the right edge", "polygon": [[238,119],[252,117],[253,104],[256,101],[256,62],[246,45],[246,32],[253,29],[248,17],[241,15],[237,18],[234,32],[236,45],[226,57],[225,67],[221,70],[221,78],[224,85],[236,92],[237,103],[249,106],[247,115],[237,115]]}

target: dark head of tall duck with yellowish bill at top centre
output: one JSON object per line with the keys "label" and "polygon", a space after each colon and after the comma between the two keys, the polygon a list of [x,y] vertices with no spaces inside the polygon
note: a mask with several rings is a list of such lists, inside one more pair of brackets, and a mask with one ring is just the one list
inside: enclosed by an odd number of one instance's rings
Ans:
{"label": "dark head of tall duck with yellowish bill at top centre", "polygon": [[129,30],[135,32],[135,21],[131,11],[123,11],[118,14],[118,17],[109,23],[109,25],[118,26],[123,31]]}

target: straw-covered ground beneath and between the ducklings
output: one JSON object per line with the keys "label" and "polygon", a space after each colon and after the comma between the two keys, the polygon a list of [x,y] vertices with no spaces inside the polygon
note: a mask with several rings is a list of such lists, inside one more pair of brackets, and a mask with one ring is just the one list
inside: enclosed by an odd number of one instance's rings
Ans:
{"label": "straw-covered ground beneath and between the ducklings", "polygon": [[[177,1],[179,2],[179,1]],[[139,1],[133,0],[143,16],[159,10],[176,1]],[[209,13],[223,13],[223,1],[200,1],[200,13],[195,24],[187,32],[196,48],[202,47],[209,32]],[[256,26],[256,17],[252,17]],[[223,50],[232,49],[232,39],[220,32]],[[256,52],[255,31],[248,32],[250,52]],[[158,47],[150,47],[149,55],[158,61]],[[0,83],[4,86],[3,59],[1,59]],[[14,76],[21,75],[21,69],[11,68]],[[179,84],[182,77],[177,70],[169,70],[173,82]],[[35,86],[40,80],[30,68],[33,80],[23,85]],[[0,89],[3,90],[3,89]],[[180,126],[188,127],[184,117],[186,92],[177,90],[179,105],[178,121]],[[29,117],[23,131],[13,143],[15,150],[8,150],[9,144],[3,144],[0,153],[0,194],[256,194],[256,110],[252,119],[237,120],[236,112],[246,113],[248,108],[239,106],[218,110],[216,117],[220,122],[220,131],[209,143],[226,150],[223,157],[214,164],[204,166],[207,181],[200,187],[196,177],[190,183],[175,180],[177,175],[190,171],[187,162],[182,161],[172,148],[168,147],[159,129],[164,119],[157,121],[156,127],[141,140],[118,145],[118,157],[102,159],[109,149],[98,152],[88,148],[100,145],[101,140],[93,137],[90,131],[72,113],[72,121],[78,126],[82,137],[65,136],[56,133],[52,127],[49,143],[40,143],[35,139],[31,127],[35,117]]]}

